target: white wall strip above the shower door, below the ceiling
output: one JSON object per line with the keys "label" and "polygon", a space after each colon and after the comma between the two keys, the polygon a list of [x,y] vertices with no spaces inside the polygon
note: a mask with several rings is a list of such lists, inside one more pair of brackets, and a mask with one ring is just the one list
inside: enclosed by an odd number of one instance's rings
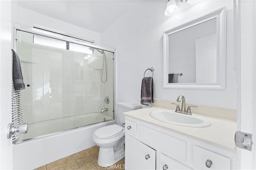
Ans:
{"label": "white wall strip above the shower door, below the ceiling", "polygon": [[96,44],[100,44],[100,33],[19,7],[18,1],[12,1],[12,23],[18,23],[26,27],[40,25],[43,28],[49,28],[53,31],[58,31],[59,33],[95,41]]}

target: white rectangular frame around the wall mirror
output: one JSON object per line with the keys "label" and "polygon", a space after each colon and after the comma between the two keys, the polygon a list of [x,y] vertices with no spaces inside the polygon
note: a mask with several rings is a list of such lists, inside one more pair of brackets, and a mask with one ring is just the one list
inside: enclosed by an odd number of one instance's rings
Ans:
{"label": "white rectangular frame around the wall mirror", "polygon": [[[217,19],[217,82],[216,83],[168,83],[168,35],[192,27],[199,23]],[[183,89],[226,89],[226,8],[205,14],[199,18],[178,25],[163,33],[163,88],[183,88]]]}

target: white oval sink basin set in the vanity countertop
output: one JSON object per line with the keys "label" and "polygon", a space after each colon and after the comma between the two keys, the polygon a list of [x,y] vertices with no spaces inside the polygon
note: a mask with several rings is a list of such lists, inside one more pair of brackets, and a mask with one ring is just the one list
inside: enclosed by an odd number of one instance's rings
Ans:
{"label": "white oval sink basin set in the vanity countertop", "polygon": [[212,125],[212,123],[204,117],[197,115],[185,115],[168,110],[152,111],[149,115],[158,121],[179,126],[208,127]]}

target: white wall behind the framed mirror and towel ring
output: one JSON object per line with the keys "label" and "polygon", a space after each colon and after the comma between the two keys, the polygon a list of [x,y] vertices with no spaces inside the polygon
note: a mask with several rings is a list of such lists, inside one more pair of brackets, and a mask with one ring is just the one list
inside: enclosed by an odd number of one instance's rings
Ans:
{"label": "white wall behind the framed mirror and towel ring", "polygon": [[[210,11],[226,6],[226,90],[164,89],[162,86],[162,34]],[[102,45],[118,50],[118,101],[140,102],[140,87],[146,68],[154,67],[154,98],[236,108],[236,72],[233,69],[233,1],[206,0],[173,17],[164,16],[165,1],[142,1],[101,34]]]}

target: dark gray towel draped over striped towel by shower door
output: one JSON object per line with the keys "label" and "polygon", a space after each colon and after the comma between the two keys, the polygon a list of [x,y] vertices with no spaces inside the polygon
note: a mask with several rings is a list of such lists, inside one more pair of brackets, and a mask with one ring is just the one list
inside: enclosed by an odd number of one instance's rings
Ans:
{"label": "dark gray towel draped over striped towel by shower door", "polygon": [[22,71],[20,67],[20,59],[17,53],[12,49],[12,79],[14,82],[15,90],[25,89],[23,82]]}

